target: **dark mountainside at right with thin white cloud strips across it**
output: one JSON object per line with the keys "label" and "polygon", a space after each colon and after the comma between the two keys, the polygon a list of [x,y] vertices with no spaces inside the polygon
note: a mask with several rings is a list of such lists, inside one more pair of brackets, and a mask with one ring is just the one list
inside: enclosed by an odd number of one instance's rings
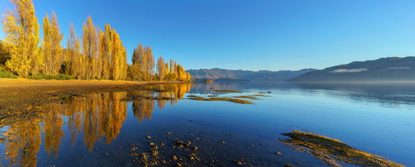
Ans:
{"label": "dark mountainside at right with thin white cloud strips across it", "polygon": [[415,81],[415,57],[355,61],[307,72],[289,81]]}

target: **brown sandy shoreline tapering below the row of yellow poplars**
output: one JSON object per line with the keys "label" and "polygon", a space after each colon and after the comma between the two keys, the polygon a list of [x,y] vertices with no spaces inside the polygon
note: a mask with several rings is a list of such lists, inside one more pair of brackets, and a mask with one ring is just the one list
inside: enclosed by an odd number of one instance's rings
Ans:
{"label": "brown sandy shoreline tapering below the row of yellow poplars", "polygon": [[0,79],[0,113],[31,109],[62,96],[134,90],[150,84],[177,84],[167,81],[33,80]]}

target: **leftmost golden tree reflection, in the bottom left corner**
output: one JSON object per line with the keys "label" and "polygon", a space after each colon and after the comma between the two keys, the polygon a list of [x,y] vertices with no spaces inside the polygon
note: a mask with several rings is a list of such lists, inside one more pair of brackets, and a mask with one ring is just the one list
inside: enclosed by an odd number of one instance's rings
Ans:
{"label": "leftmost golden tree reflection, in the bottom left corner", "polygon": [[40,120],[23,120],[10,125],[6,137],[6,160],[10,166],[36,166],[40,150]]}

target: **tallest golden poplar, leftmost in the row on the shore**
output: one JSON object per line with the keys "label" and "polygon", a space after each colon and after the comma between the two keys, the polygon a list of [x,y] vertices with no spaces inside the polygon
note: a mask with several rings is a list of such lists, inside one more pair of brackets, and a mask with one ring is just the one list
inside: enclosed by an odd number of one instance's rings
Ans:
{"label": "tallest golden poplar, leftmost in the row on the shore", "polygon": [[31,0],[12,0],[15,10],[3,14],[4,42],[10,49],[10,59],[6,62],[12,72],[26,77],[38,68],[39,24]]}

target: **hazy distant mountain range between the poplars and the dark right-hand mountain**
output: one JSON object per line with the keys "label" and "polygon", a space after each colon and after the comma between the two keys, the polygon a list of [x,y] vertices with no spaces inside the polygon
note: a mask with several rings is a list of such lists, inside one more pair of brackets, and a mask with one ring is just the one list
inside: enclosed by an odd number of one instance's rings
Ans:
{"label": "hazy distant mountain range between the poplars and the dark right-hand mountain", "polygon": [[187,70],[190,77],[195,81],[212,79],[214,81],[287,81],[306,72],[315,71],[316,69],[302,69],[298,71],[282,70],[268,71],[260,70],[257,72],[248,70],[226,70],[220,68]]}

